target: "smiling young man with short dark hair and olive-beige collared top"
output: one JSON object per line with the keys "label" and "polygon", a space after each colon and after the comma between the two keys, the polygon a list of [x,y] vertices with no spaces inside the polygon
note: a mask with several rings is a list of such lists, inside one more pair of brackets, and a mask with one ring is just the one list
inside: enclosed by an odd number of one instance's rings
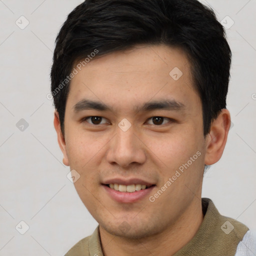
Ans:
{"label": "smiling young man with short dark hair and olive-beige collared top", "polygon": [[99,225],[67,256],[250,255],[248,227],[201,199],[230,127],[230,62],[223,27],[196,0],[87,0],[68,15],[54,126]]}

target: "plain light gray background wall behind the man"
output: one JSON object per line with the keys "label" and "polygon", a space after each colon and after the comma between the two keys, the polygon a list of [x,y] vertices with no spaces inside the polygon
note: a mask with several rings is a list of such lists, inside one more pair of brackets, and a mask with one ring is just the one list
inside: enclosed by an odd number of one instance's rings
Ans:
{"label": "plain light gray background wall behind the man", "polygon": [[[0,0],[0,255],[60,256],[97,225],[66,177],[46,98],[55,37],[80,2]],[[202,195],[255,230],[256,0],[202,2],[219,21],[234,21],[226,29],[233,54],[227,108],[234,125],[221,160],[205,174]],[[15,24],[21,15],[29,21],[24,29]],[[21,118],[29,124],[24,131],[16,127]],[[23,235],[15,229],[21,220],[29,226]]]}

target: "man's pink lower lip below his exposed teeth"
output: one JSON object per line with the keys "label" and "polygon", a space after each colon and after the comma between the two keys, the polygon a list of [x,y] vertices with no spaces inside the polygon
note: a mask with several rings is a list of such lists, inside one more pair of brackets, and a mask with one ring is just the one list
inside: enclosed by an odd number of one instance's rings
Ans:
{"label": "man's pink lower lip below his exposed teeth", "polygon": [[106,190],[106,192],[110,195],[110,197],[117,202],[135,202],[140,199],[143,199],[146,195],[148,195],[152,191],[152,189],[155,186],[150,186],[146,189],[141,189],[139,191],[134,191],[134,192],[116,191],[107,185],[103,185],[103,187]]}

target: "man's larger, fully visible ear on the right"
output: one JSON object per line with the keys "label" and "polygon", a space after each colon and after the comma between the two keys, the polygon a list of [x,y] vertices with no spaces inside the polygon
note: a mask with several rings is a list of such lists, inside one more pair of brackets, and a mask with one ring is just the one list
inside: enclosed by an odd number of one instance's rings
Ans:
{"label": "man's larger, fully visible ear on the right", "polygon": [[220,159],[226,144],[230,123],[230,113],[223,108],[211,123],[210,131],[206,135],[204,164],[211,165]]}

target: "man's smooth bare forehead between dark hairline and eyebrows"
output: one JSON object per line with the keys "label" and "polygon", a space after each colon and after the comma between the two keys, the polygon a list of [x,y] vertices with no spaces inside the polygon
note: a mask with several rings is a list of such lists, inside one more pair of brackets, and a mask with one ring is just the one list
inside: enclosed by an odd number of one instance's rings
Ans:
{"label": "man's smooth bare forehead between dark hairline and eyebrows", "polygon": [[92,58],[77,71],[68,94],[72,103],[90,98],[116,108],[127,103],[134,109],[135,101],[141,105],[167,95],[181,103],[191,96],[198,101],[185,53],[167,45],[137,45],[112,52]]}

